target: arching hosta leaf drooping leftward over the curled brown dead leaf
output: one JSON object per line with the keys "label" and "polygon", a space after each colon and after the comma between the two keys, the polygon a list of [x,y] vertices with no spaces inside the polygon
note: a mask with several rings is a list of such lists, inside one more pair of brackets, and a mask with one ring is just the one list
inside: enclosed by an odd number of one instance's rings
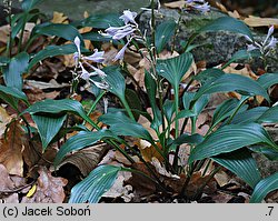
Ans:
{"label": "arching hosta leaf drooping leftward over the curled brown dead leaf", "polygon": [[67,140],[67,142],[60,148],[54,159],[54,165],[57,167],[69,152],[81,150],[108,137],[113,138],[115,135],[109,130],[79,132]]}

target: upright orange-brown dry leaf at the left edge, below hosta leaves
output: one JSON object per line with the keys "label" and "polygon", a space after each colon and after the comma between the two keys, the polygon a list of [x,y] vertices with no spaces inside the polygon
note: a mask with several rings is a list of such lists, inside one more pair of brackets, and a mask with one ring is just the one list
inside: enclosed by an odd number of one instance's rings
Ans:
{"label": "upright orange-brown dry leaf at the left edge, below hosta leaves", "polygon": [[23,174],[22,151],[24,144],[24,132],[18,121],[10,123],[7,139],[0,140],[0,163],[2,163],[10,174]]}

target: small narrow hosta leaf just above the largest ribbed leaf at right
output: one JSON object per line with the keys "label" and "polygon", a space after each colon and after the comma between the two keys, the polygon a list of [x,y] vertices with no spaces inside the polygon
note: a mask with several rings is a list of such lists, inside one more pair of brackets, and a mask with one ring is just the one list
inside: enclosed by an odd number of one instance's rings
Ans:
{"label": "small narrow hosta leaf just above the largest ribbed leaf at right", "polygon": [[242,123],[258,122],[258,118],[260,118],[260,115],[265,113],[267,110],[268,110],[267,107],[258,107],[247,111],[239,112],[234,117],[231,123],[242,124]]}

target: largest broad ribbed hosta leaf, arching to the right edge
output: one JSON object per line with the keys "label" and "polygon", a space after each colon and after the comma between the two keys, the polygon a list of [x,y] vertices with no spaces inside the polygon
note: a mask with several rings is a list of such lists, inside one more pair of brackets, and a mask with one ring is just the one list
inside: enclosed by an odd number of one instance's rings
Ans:
{"label": "largest broad ribbed hosta leaf, arching to the right edge", "polygon": [[256,143],[266,143],[278,150],[277,144],[267,131],[257,123],[230,124],[209,134],[201,143],[196,145],[189,157],[189,163],[227,153]]}

